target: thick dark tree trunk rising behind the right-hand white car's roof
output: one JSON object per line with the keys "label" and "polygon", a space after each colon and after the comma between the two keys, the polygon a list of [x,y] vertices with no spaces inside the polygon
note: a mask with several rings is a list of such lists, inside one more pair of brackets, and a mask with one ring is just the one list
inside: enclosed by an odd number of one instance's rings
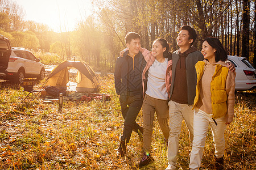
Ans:
{"label": "thick dark tree trunk rising behind the right-hand white car's roof", "polygon": [[243,0],[243,29],[242,29],[242,57],[249,59],[249,39],[250,39],[250,8],[249,0]]}

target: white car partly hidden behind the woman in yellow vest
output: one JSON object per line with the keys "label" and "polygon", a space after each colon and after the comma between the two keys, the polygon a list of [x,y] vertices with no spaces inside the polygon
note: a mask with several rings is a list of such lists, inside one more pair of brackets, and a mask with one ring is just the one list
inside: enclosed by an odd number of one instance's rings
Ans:
{"label": "white car partly hidden behind the woman in yellow vest", "polygon": [[236,90],[252,90],[256,87],[256,70],[245,57],[228,56],[236,67]]}

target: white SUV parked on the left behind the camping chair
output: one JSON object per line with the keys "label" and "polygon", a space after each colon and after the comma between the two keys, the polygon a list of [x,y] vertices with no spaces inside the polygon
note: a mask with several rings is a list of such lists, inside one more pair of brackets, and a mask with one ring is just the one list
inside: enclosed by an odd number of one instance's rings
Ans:
{"label": "white SUV parked on the left behind the camping chair", "polygon": [[13,47],[7,69],[0,71],[0,79],[14,80],[15,83],[22,83],[24,78],[44,79],[44,70],[40,59],[29,50]]}

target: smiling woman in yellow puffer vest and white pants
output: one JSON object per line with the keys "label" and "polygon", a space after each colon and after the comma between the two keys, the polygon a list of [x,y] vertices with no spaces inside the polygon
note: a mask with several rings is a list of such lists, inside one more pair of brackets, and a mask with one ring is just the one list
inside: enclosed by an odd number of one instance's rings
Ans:
{"label": "smiling woman in yellow puffer vest and white pants", "polygon": [[199,169],[208,126],[212,129],[216,169],[224,169],[224,132],[233,121],[236,73],[229,71],[228,56],[216,37],[208,37],[202,45],[204,61],[196,63],[197,86],[193,109],[194,138],[190,169]]}

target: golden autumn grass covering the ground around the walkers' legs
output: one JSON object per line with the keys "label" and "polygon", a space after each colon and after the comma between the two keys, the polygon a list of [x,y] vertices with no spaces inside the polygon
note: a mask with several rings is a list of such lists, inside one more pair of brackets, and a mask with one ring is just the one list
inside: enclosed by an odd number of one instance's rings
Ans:
{"label": "golden autumn grass covering the ground around the walkers' legs", "polygon": [[[0,169],[138,169],[142,142],[132,134],[125,158],[116,154],[123,118],[114,90],[113,75],[100,77],[102,93],[112,100],[67,101],[63,112],[57,103],[42,99],[22,103],[22,89],[0,82]],[[38,87],[40,87],[40,82]],[[236,93],[236,116],[226,130],[226,169],[256,169],[255,91]],[[137,118],[143,125],[142,114]],[[155,162],[141,169],[164,169],[167,148],[154,122],[152,156]],[[188,169],[188,130],[183,122],[177,169]],[[213,140],[207,135],[201,169],[213,169]]]}

